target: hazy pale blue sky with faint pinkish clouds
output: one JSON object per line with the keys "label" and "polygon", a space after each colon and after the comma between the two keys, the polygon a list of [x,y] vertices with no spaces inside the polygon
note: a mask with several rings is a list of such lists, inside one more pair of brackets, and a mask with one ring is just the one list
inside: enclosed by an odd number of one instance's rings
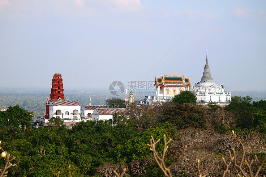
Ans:
{"label": "hazy pale blue sky with faint pinkish clouds", "polygon": [[266,1],[0,0],[0,87],[50,87],[55,73],[73,88],[194,85],[207,48],[225,91],[265,91]]}

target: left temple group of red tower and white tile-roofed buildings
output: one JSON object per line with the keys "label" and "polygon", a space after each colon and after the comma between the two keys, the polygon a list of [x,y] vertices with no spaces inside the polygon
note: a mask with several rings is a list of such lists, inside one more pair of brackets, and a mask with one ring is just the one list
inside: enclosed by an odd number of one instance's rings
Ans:
{"label": "left temple group of red tower and white tile-roofed buildings", "polygon": [[127,111],[125,108],[108,108],[106,105],[83,105],[81,107],[79,101],[69,101],[64,96],[62,75],[56,73],[52,79],[50,98],[46,99],[45,117],[36,117],[32,126],[34,128],[47,126],[53,117],[59,117],[63,120],[68,129],[72,129],[75,124],[87,120],[108,120],[112,124],[115,113]]}

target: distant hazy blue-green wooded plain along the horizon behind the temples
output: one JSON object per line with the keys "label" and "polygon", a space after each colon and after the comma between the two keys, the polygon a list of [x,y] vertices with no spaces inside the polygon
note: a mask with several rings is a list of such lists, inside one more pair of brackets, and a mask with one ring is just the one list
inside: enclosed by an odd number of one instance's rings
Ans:
{"label": "distant hazy blue-green wooded plain along the horizon behind the temples", "polygon": [[[138,92],[138,91],[137,91]],[[146,91],[135,94],[135,100],[144,98]],[[151,91],[148,91],[151,92]],[[69,100],[78,100],[81,105],[88,105],[91,95],[91,103],[94,105],[105,104],[105,100],[114,97],[108,89],[64,89],[65,97]],[[266,91],[232,91],[232,96],[250,95],[252,101],[259,101],[266,98]],[[46,98],[50,97],[50,88],[1,88],[0,89],[0,108],[9,106],[19,107],[33,112],[35,116],[45,115]],[[119,96],[124,99],[125,93]]]}

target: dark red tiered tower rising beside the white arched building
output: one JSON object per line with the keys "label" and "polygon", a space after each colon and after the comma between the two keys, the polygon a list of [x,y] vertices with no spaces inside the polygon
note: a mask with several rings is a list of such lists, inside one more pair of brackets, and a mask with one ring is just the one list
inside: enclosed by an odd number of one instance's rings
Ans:
{"label": "dark red tiered tower rising beside the white arched building", "polygon": [[64,89],[63,89],[63,79],[60,73],[55,73],[54,78],[52,80],[52,88],[50,98],[47,98],[45,104],[45,119],[49,118],[49,104],[51,100],[66,100],[64,98]]}

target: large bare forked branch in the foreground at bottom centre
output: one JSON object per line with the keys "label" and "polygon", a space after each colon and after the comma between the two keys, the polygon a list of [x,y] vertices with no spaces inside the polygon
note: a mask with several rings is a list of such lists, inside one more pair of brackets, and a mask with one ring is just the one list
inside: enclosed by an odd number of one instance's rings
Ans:
{"label": "large bare forked branch in the foreground at bottom centre", "polygon": [[166,136],[164,134],[164,150],[163,150],[163,154],[160,153],[160,156],[157,154],[155,147],[156,144],[160,141],[160,139],[158,139],[156,142],[154,141],[153,136],[151,136],[150,139],[150,144],[147,144],[148,146],[150,146],[150,150],[152,151],[153,154],[153,158],[155,159],[157,165],[160,167],[161,171],[163,171],[165,177],[172,177],[171,174],[171,169],[175,166],[175,164],[178,162],[178,160],[182,157],[182,155],[185,153],[186,149],[187,149],[187,145],[185,146],[183,152],[180,154],[180,156],[176,159],[176,161],[174,161],[170,166],[166,167],[164,160],[165,160],[165,153],[168,149],[168,144],[172,141],[172,138],[170,138],[167,142],[166,142]]}

